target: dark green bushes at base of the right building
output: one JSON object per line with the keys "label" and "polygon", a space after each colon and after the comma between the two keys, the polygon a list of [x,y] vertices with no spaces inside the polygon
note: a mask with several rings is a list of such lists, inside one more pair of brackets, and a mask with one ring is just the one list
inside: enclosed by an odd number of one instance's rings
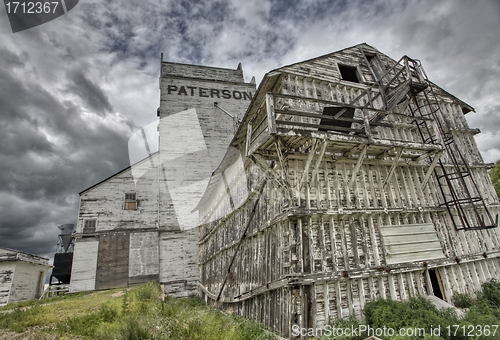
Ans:
{"label": "dark green bushes at base of the right building", "polygon": [[[462,339],[500,339],[500,327],[493,335],[493,328],[489,335],[481,335],[486,325],[500,325],[500,282],[491,280],[482,285],[482,291],[476,293],[473,299],[469,295],[453,295],[453,301],[459,307],[467,308],[465,316],[458,317],[453,309],[438,310],[423,297],[411,298],[408,301],[393,301],[378,299],[370,301],[363,310],[363,319],[337,320],[331,324],[336,328],[355,328],[359,325],[372,329],[392,328],[397,332],[401,328],[425,329],[425,335],[418,336],[382,336],[383,339],[433,339],[433,340],[462,340]],[[456,325],[456,326],[455,326]],[[431,336],[431,328],[440,327],[440,336]],[[447,327],[450,329],[448,334]],[[458,330],[457,330],[458,328]],[[472,333],[470,331],[472,330]],[[456,333],[454,331],[457,331]],[[464,332],[465,331],[465,332]],[[465,333],[465,334],[464,334]],[[372,335],[372,334],[370,334]],[[473,335],[472,337],[469,335]],[[361,340],[367,338],[367,333],[357,336],[327,337],[321,339],[350,339]]]}

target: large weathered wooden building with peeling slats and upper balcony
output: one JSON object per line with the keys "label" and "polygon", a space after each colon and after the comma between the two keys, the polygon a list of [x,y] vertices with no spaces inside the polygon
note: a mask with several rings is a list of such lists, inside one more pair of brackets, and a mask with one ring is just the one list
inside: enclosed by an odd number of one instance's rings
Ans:
{"label": "large weathered wooden building with peeling slats and upper balcony", "polygon": [[499,278],[471,111],[367,44],[267,73],[198,205],[203,296],[291,336]]}

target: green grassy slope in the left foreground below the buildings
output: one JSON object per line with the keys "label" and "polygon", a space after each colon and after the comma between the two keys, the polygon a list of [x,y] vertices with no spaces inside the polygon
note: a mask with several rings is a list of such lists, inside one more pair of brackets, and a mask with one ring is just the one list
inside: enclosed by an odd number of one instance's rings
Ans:
{"label": "green grassy slope in the left foreground below the buildings", "polygon": [[8,305],[0,328],[30,339],[275,339],[257,322],[211,308],[200,298],[160,300],[158,283]]}

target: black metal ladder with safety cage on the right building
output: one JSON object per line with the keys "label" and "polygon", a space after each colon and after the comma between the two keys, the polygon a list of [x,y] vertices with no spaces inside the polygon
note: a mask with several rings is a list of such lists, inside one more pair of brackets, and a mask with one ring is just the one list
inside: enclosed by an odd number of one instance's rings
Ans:
{"label": "black metal ladder with safety cage on the right building", "polygon": [[[399,108],[401,113],[404,113],[406,108],[409,108],[411,116],[428,117],[435,122],[437,131],[430,128],[429,122],[426,120],[414,120],[413,124],[416,124],[424,143],[441,144],[444,147],[445,154],[451,163],[451,166],[448,165],[451,170],[447,170],[443,160],[439,158],[439,166],[434,169],[434,174],[443,197],[441,206],[446,207],[454,227],[457,230],[497,227],[498,214],[493,219],[479,192],[468,162],[458,148],[453,135],[447,132],[449,129],[445,129],[444,124],[446,122],[443,123],[440,119],[440,116],[444,117],[444,115],[442,115],[437,96],[420,61],[404,56],[390,70],[377,77],[365,52],[362,49],[360,51],[376,80],[374,85],[379,87],[379,93],[385,105],[384,110],[391,111],[397,106],[402,106],[402,108]],[[372,88],[373,85],[365,92],[370,91]],[[366,96],[367,93],[365,92],[353,101],[355,102],[359,98]],[[420,95],[421,103],[417,100],[419,93],[423,94],[423,96]],[[370,123],[380,122],[385,116],[385,114],[379,112],[370,119]],[[430,158],[431,164],[434,157]]]}

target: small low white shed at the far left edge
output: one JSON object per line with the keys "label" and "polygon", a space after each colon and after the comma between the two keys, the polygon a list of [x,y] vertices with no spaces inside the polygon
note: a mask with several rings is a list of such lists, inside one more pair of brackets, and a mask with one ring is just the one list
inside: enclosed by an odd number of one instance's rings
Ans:
{"label": "small low white shed at the far left edge", "polygon": [[0,247],[0,307],[41,297],[50,268],[49,259]]}

